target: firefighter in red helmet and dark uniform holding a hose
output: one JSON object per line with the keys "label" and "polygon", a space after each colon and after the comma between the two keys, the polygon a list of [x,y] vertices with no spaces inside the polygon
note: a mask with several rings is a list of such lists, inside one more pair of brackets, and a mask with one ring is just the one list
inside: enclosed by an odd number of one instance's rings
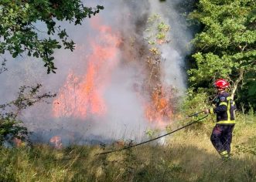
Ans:
{"label": "firefighter in red helmet and dark uniform holding a hose", "polygon": [[213,100],[215,107],[204,110],[204,113],[215,113],[217,116],[217,123],[210,140],[224,160],[230,158],[230,143],[235,124],[234,101],[226,91],[229,85],[225,79],[217,79],[214,82],[214,87],[217,89],[217,96]]}

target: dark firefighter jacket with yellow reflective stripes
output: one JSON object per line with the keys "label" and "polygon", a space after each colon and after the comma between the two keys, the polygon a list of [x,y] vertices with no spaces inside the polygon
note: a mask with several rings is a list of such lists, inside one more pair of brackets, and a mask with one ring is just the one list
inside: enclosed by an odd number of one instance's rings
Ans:
{"label": "dark firefighter jacket with yellow reflective stripes", "polygon": [[217,124],[234,124],[234,101],[229,93],[220,93],[213,101],[215,108],[210,109],[210,113],[216,113]]}

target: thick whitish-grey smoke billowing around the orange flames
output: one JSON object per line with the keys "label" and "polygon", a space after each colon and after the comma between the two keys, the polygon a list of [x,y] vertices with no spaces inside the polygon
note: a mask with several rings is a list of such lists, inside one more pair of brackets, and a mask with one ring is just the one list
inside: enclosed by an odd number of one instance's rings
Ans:
{"label": "thick whitish-grey smoke billowing around the orange flames", "polygon": [[[42,92],[59,93],[70,72],[78,77],[84,76],[87,72],[87,59],[92,52],[90,41],[97,41],[99,37],[98,30],[92,27],[91,22],[100,18],[103,25],[111,26],[114,32],[119,32],[126,39],[123,45],[125,48],[120,47],[118,53],[119,65],[110,72],[111,82],[104,91],[104,100],[108,107],[106,116],[90,115],[84,120],[72,116],[55,118],[52,105],[39,103],[22,113],[22,120],[29,130],[34,132],[32,139],[39,142],[48,142],[49,138],[56,135],[61,136],[65,143],[141,139],[145,135],[145,130],[152,124],[145,119],[142,102],[138,99],[134,86],[136,83],[141,83],[145,76],[138,62],[134,60],[128,62],[127,59],[131,59],[129,57],[131,55],[128,55],[124,49],[129,49],[127,48],[129,37],[137,39],[137,42],[142,42],[143,45],[145,41],[143,32],[148,16],[159,14],[171,27],[169,32],[171,42],[167,45],[159,45],[162,59],[164,59],[161,63],[163,71],[161,79],[168,86],[174,86],[183,92],[186,89],[184,57],[188,53],[190,34],[184,29],[185,21],[176,12],[175,7],[178,2],[88,1],[86,5],[104,5],[104,10],[96,17],[84,20],[83,25],[60,23],[67,29],[70,38],[77,43],[77,49],[73,52],[56,50],[57,73],[47,75],[42,61],[27,56],[9,61],[7,64],[9,71],[0,75],[1,103],[14,99],[15,93],[22,85],[42,83]],[[38,26],[42,26],[41,29],[43,29],[43,25]],[[139,58],[139,50],[135,56],[135,59]]]}

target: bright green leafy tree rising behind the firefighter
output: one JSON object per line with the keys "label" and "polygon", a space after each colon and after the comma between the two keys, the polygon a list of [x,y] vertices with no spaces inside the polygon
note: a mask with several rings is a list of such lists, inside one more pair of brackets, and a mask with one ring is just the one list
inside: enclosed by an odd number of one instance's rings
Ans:
{"label": "bright green leafy tree rising behind the firefighter", "polygon": [[[228,79],[231,93],[254,85],[256,71],[256,2],[254,0],[200,0],[189,18],[202,31],[193,39],[192,87],[207,87],[209,80]],[[255,92],[254,98],[256,97]],[[256,108],[256,105],[255,105]]]}

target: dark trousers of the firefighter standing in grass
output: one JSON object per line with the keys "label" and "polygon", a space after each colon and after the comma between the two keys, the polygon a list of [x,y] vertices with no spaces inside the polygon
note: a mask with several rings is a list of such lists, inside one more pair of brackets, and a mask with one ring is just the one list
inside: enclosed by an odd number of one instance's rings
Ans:
{"label": "dark trousers of the firefighter standing in grass", "polygon": [[219,153],[224,151],[230,153],[233,129],[234,124],[217,124],[214,126],[210,140]]}

